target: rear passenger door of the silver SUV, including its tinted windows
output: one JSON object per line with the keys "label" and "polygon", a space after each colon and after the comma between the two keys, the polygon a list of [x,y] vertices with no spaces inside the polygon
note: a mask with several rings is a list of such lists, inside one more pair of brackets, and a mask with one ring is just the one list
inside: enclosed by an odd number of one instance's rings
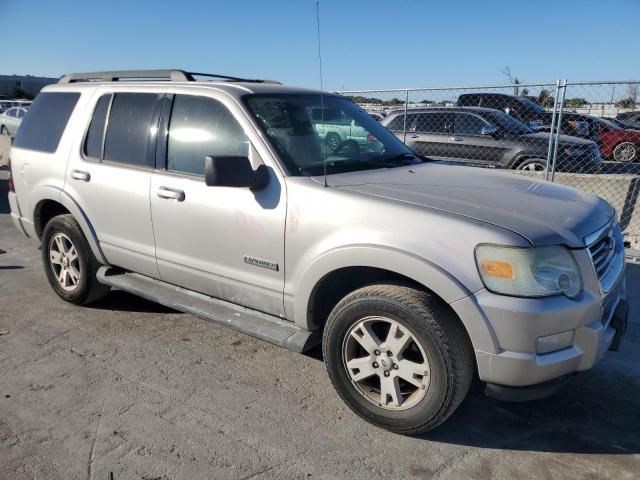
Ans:
{"label": "rear passenger door of the silver SUV, including its tinted windows", "polygon": [[149,188],[163,96],[161,91],[97,90],[65,183],[107,261],[156,278]]}

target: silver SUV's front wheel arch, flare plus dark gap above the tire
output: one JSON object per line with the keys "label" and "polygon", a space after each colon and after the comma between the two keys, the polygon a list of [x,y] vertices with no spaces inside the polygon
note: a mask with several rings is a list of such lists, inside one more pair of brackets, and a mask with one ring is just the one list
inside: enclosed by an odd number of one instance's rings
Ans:
{"label": "silver SUV's front wheel arch, flare plus dark gap above the tire", "polygon": [[340,299],[380,281],[402,282],[431,292],[451,308],[474,348],[495,350],[495,335],[488,323],[477,315],[465,318],[451,305],[473,292],[426,259],[392,248],[349,246],[317,259],[302,275],[294,302],[294,320],[308,330],[321,329]]}

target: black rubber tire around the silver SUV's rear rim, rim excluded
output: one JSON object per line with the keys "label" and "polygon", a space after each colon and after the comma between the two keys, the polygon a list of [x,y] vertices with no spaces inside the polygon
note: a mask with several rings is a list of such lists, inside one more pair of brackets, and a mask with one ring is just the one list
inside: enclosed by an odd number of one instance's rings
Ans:
{"label": "black rubber tire around the silver SUV's rear rim, rim excluded", "polygon": [[[59,237],[59,234],[66,236],[77,252],[79,280],[73,290],[65,290],[58,282],[55,273],[55,268],[58,267],[54,267],[51,258],[52,254],[55,253],[52,249],[56,248],[52,247],[52,243],[55,243],[55,240],[52,239],[56,236]],[[91,247],[73,215],[66,214],[53,217],[44,227],[42,232],[42,261],[51,288],[60,298],[67,302],[85,305],[95,302],[109,293],[110,288],[99,283],[96,278],[100,263],[93,255]]]}

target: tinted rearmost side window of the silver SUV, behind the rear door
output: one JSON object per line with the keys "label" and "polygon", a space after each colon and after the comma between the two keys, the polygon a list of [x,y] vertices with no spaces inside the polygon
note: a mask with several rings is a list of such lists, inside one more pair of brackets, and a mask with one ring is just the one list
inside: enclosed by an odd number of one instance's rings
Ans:
{"label": "tinted rearmost side window of the silver SUV, behind the rear door", "polygon": [[24,116],[13,146],[53,153],[78,103],[77,92],[43,92]]}

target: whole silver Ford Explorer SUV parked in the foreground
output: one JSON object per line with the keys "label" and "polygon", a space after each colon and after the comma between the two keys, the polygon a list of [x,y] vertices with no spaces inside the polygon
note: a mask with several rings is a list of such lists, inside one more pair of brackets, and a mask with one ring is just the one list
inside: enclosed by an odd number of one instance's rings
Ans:
{"label": "whole silver Ford Explorer SUV parked in the foreground", "polygon": [[[293,351],[322,342],[347,405],[405,434],[475,375],[540,398],[617,348],[607,202],[419,157],[339,95],[195,78],[69,75],[25,116],[11,216],[62,299],[113,287]],[[327,145],[337,118],[366,141]]]}

